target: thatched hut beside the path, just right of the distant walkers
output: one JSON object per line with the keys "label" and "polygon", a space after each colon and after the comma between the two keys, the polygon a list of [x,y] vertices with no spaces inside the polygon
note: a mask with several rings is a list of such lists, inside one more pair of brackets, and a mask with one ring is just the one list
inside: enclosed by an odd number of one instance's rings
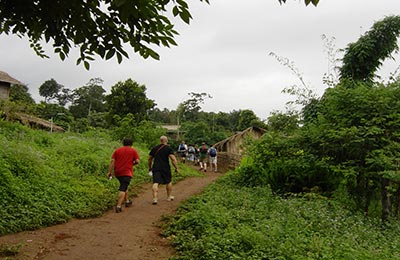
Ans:
{"label": "thatched hut beside the path, just right of the distant walkers", "polygon": [[246,140],[259,139],[266,132],[263,128],[252,126],[214,144],[218,151],[218,164],[225,165],[228,169],[236,168],[242,159]]}

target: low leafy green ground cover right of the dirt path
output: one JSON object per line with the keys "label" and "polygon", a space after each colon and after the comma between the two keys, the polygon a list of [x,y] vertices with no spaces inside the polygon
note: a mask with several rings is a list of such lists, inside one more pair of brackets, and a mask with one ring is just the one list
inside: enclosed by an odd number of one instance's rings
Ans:
{"label": "low leafy green ground cover right of the dirt path", "polygon": [[400,225],[377,219],[316,194],[278,197],[268,186],[237,185],[236,173],[183,204],[164,235],[172,259],[400,258]]}

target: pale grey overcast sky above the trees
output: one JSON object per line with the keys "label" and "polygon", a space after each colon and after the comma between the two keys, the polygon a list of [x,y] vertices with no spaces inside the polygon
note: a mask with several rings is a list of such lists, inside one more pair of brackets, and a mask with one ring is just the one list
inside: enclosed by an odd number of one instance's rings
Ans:
{"label": "pale grey overcast sky above the trees", "polygon": [[[26,39],[0,36],[0,70],[25,83],[36,101],[38,88],[51,78],[66,88],[84,86],[91,78],[104,80],[103,88],[131,78],[147,88],[147,97],[160,109],[176,109],[189,92],[208,93],[207,112],[251,109],[261,119],[272,111],[285,110],[293,97],[281,91],[298,78],[269,56],[290,59],[307,84],[321,95],[322,76],[329,72],[327,48],[322,35],[335,37],[337,49],[355,42],[374,22],[400,15],[400,0],[320,0],[317,7],[303,0],[188,0],[193,21],[178,21],[178,46],[159,50],[160,61],[131,54],[121,64],[97,58],[90,71],[76,66],[77,52],[66,61],[52,53],[41,59]],[[399,65],[385,61],[380,74],[387,78]]]}

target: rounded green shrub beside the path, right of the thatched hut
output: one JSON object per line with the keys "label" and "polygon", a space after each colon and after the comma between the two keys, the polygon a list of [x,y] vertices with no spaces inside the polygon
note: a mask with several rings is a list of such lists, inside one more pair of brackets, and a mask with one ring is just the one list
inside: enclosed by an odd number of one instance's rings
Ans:
{"label": "rounded green shrub beside the path, right of the thatched hut", "polygon": [[332,191],[328,158],[304,150],[298,135],[265,134],[254,142],[237,169],[236,182],[247,187],[269,185],[275,192]]}

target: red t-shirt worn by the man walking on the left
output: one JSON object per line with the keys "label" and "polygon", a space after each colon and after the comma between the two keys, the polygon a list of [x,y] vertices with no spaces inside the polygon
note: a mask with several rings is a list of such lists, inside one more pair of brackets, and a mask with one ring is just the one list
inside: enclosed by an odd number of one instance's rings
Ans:
{"label": "red t-shirt worn by the man walking on the left", "polygon": [[114,162],[115,176],[133,177],[133,162],[139,159],[138,152],[130,146],[117,148],[111,156]]}

